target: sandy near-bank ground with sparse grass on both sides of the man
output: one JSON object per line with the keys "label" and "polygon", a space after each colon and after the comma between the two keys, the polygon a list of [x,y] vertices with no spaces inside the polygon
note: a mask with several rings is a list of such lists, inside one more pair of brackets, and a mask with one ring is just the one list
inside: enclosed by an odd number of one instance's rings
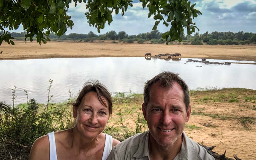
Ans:
{"label": "sandy near-bank ground with sparse grass on both sides of the man", "polygon": [[[250,89],[192,91],[192,112],[184,132],[200,144],[216,145],[213,151],[218,154],[226,150],[229,158],[236,154],[242,160],[255,160],[255,101],[256,90]],[[108,126],[121,126],[121,110],[124,125],[135,130],[142,103],[142,95],[114,100],[114,113]]]}

